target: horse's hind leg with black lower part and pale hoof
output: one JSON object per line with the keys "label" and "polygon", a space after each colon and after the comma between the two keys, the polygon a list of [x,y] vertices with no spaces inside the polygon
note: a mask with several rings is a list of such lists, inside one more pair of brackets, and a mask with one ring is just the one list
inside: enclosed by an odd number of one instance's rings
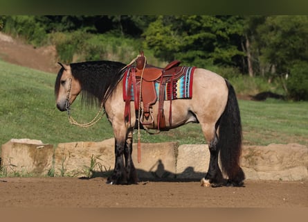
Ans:
{"label": "horse's hind leg with black lower part and pale hoof", "polygon": [[218,138],[214,126],[204,124],[202,127],[203,134],[209,142],[208,148],[210,150],[210,163],[206,177],[201,180],[201,186],[221,187],[226,184],[226,180],[222,176],[221,170],[218,165],[219,147],[217,146]]}

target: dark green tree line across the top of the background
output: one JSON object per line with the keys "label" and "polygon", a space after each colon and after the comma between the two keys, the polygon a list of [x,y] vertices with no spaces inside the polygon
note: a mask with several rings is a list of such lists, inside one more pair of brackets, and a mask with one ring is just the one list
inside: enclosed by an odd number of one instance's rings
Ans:
{"label": "dark green tree line across the top of the background", "polygon": [[292,99],[308,100],[307,15],[0,16],[1,29],[35,44],[75,31],[134,39],[160,60],[276,78]]}

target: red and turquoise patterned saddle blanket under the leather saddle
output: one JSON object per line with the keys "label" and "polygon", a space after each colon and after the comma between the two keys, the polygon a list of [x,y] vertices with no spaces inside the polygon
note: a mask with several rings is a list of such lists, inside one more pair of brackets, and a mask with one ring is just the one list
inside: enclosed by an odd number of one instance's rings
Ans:
{"label": "red and turquoise patterned saddle blanket under the leather saddle", "polygon": [[[192,98],[192,81],[194,75],[195,67],[187,67],[185,74],[181,76],[178,80],[174,80],[173,83],[166,83],[165,85],[165,100],[174,100],[174,99],[191,99]],[[123,99],[127,99],[127,87],[129,83],[129,72],[125,74],[123,79]],[[159,98],[159,87],[160,83],[155,82],[155,89],[157,99]],[[134,87],[131,85],[129,87],[131,90],[131,101],[134,101]]]}

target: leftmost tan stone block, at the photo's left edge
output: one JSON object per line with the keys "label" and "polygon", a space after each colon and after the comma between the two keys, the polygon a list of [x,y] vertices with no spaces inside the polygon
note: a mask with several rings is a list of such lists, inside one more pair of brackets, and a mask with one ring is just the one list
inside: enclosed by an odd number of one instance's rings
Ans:
{"label": "leftmost tan stone block, at the photo's left edge", "polygon": [[46,176],[52,169],[53,145],[35,139],[11,139],[1,146],[1,167],[10,174]]}

